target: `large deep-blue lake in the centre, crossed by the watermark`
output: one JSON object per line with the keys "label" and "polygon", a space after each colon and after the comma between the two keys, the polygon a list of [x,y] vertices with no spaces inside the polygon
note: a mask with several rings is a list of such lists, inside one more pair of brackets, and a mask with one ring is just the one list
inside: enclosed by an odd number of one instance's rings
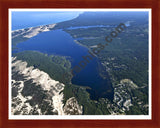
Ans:
{"label": "large deep-blue lake in the centre, crossed by the watermark", "polygon": [[[74,42],[74,39],[63,30],[43,32],[29,40],[17,45],[18,52],[24,50],[36,50],[49,55],[70,56],[72,67],[77,65],[82,56],[88,55],[88,49]],[[113,98],[113,89],[109,76],[103,79],[99,74],[99,67],[102,66],[94,57],[87,66],[72,79],[72,83],[80,86],[89,86],[88,90],[92,99],[99,97]],[[106,73],[107,75],[107,73]]]}

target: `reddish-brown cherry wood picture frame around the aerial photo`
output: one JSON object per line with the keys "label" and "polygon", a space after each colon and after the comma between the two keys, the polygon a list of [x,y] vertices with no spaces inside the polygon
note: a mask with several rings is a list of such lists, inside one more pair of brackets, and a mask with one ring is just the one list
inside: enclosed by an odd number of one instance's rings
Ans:
{"label": "reddish-brown cherry wood picture frame around the aerial photo", "polygon": [[[9,120],[8,53],[9,9],[104,8],[152,9],[151,120]],[[0,0],[0,128],[159,128],[160,127],[160,0]]]}

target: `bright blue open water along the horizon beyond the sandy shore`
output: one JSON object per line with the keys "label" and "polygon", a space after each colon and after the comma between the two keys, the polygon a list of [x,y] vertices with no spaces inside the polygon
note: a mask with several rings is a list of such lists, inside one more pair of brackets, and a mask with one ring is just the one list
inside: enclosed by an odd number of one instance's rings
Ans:
{"label": "bright blue open water along the horizon beyond the sandy shore", "polygon": [[71,20],[79,16],[80,13],[82,12],[13,11],[11,14],[12,31]]}

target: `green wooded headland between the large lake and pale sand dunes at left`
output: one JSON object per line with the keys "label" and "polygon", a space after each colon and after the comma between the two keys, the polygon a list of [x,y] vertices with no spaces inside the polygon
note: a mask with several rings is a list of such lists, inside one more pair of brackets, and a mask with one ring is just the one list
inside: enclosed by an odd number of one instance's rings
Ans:
{"label": "green wooded headland between the large lake and pale sand dunes at left", "polygon": [[[28,63],[27,66],[33,66],[48,73],[54,80],[64,84],[71,81],[71,74],[69,72],[71,64],[65,57],[48,56],[37,51],[23,51],[15,53],[13,56],[16,56],[18,60],[26,61]],[[64,73],[68,73],[68,75],[65,75],[68,78],[63,79]]]}

